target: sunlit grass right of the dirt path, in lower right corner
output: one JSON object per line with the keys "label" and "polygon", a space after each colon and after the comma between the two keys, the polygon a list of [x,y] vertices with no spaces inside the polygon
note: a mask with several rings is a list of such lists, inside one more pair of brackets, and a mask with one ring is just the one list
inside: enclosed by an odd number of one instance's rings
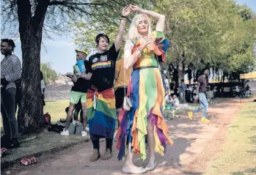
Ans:
{"label": "sunlit grass right of the dirt path, in lower right corner", "polygon": [[204,174],[256,174],[256,103],[244,105],[227,130],[227,142]]}

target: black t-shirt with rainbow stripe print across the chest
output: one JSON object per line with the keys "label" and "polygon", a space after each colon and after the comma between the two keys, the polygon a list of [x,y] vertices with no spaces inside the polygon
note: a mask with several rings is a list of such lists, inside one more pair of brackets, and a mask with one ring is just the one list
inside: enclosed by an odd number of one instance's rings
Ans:
{"label": "black t-shirt with rainbow stripe print across the chest", "polygon": [[92,73],[90,83],[98,89],[98,92],[113,87],[118,53],[119,51],[116,51],[113,44],[108,51],[96,53],[89,57],[87,70]]}

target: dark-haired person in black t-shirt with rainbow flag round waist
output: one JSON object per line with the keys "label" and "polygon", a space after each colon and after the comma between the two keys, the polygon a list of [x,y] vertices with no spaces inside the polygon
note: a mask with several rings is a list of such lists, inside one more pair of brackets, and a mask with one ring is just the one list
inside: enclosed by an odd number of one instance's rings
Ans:
{"label": "dark-haired person in black t-shirt with rainbow flag round waist", "polygon": [[[127,16],[131,13],[129,7],[122,10],[120,29],[114,44],[109,46],[109,37],[98,34],[95,39],[98,53],[89,57],[88,73],[83,78],[90,80],[91,88],[87,91],[87,119],[89,135],[92,140],[93,152],[89,160],[109,160],[112,154],[115,122],[117,119],[114,99],[114,71],[117,56],[122,44]],[[106,152],[100,156],[100,138],[106,138]]]}

